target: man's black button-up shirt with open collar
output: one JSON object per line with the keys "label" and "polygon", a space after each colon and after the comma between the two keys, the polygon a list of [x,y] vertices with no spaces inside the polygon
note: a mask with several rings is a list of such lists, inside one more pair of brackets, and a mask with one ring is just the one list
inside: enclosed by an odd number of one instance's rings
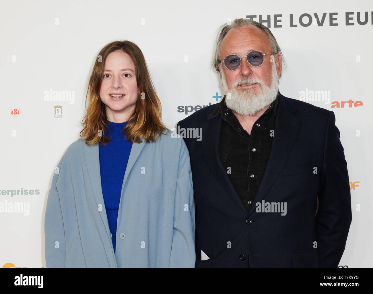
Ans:
{"label": "man's black button-up shirt with open collar", "polygon": [[279,93],[254,123],[251,135],[225,104],[225,96],[208,118],[223,118],[219,137],[219,158],[247,211],[254,202],[266,169],[275,130]]}

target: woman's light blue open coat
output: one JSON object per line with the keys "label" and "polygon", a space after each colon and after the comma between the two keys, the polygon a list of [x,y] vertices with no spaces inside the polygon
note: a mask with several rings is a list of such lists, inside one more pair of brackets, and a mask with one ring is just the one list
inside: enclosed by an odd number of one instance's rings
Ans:
{"label": "woman's light blue open coat", "polygon": [[132,144],[111,241],[98,145],[72,143],[53,176],[45,215],[47,268],[194,268],[189,153],[168,132]]}

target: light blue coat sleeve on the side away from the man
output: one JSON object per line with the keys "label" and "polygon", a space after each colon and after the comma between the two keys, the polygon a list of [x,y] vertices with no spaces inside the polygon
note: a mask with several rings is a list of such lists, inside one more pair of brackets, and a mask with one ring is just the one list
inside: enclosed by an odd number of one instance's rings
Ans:
{"label": "light blue coat sleeve on the side away from the man", "polygon": [[63,225],[60,197],[57,191],[57,181],[61,172],[62,157],[58,164],[58,173],[55,173],[52,186],[49,190],[46,215],[44,220],[45,255],[47,268],[65,268],[66,242]]}

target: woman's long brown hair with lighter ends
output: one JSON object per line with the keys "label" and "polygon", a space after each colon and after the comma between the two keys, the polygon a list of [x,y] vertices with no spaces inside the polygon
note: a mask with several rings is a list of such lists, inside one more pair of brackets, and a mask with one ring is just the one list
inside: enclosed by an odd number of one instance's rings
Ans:
{"label": "woman's long brown hair with lighter ends", "polygon": [[135,64],[138,97],[135,109],[127,119],[127,124],[122,130],[128,141],[140,143],[143,137],[146,143],[155,142],[166,127],[162,122],[162,106],[151,81],[148,67],[140,48],[130,41],[115,41],[101,49],[93,66],[88,83],[85,103],[89,99],[87,114],[82,121],[83,130],[78,140],[85,140],[87,145],[101,143],[106,145],[111,136],[105,138],[108,130],[106,121],[105,104],[100,98],[100,88],[103,79],[104,65],[107,55],[121,50],[127,53]]}

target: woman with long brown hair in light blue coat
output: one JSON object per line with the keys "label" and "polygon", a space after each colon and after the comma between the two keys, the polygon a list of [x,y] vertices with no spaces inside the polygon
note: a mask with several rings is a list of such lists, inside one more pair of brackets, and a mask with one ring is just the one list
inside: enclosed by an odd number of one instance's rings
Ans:
{"label": "woman with long brown hair in light blue coat", "polygon": [[48,195],[47,267],[194,268],[189,153],[161,121],[140,48],[116,41],[101,49],[87,97],[81,138]]}

